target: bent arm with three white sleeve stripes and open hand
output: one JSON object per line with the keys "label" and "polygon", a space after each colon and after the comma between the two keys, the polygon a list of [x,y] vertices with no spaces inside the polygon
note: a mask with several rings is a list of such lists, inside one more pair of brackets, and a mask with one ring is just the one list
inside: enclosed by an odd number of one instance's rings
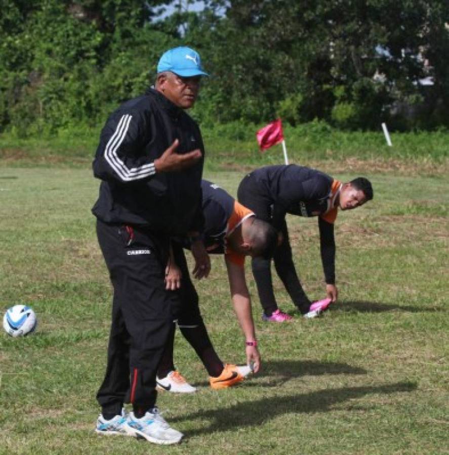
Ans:
{"label": "bent arm with three white sleeve stripes and open hand", "polygon": [[93,163],[95,176],[136,183],[151,178],[156,172],[189,167],[201,157],[199,149],[182,155],[176,153],[177,139],[162,153],[148,153],[145,144],[150,139],[150,124],[151,117],[141,112],[124,113],[118,119],[109,118],[101,132]]}

